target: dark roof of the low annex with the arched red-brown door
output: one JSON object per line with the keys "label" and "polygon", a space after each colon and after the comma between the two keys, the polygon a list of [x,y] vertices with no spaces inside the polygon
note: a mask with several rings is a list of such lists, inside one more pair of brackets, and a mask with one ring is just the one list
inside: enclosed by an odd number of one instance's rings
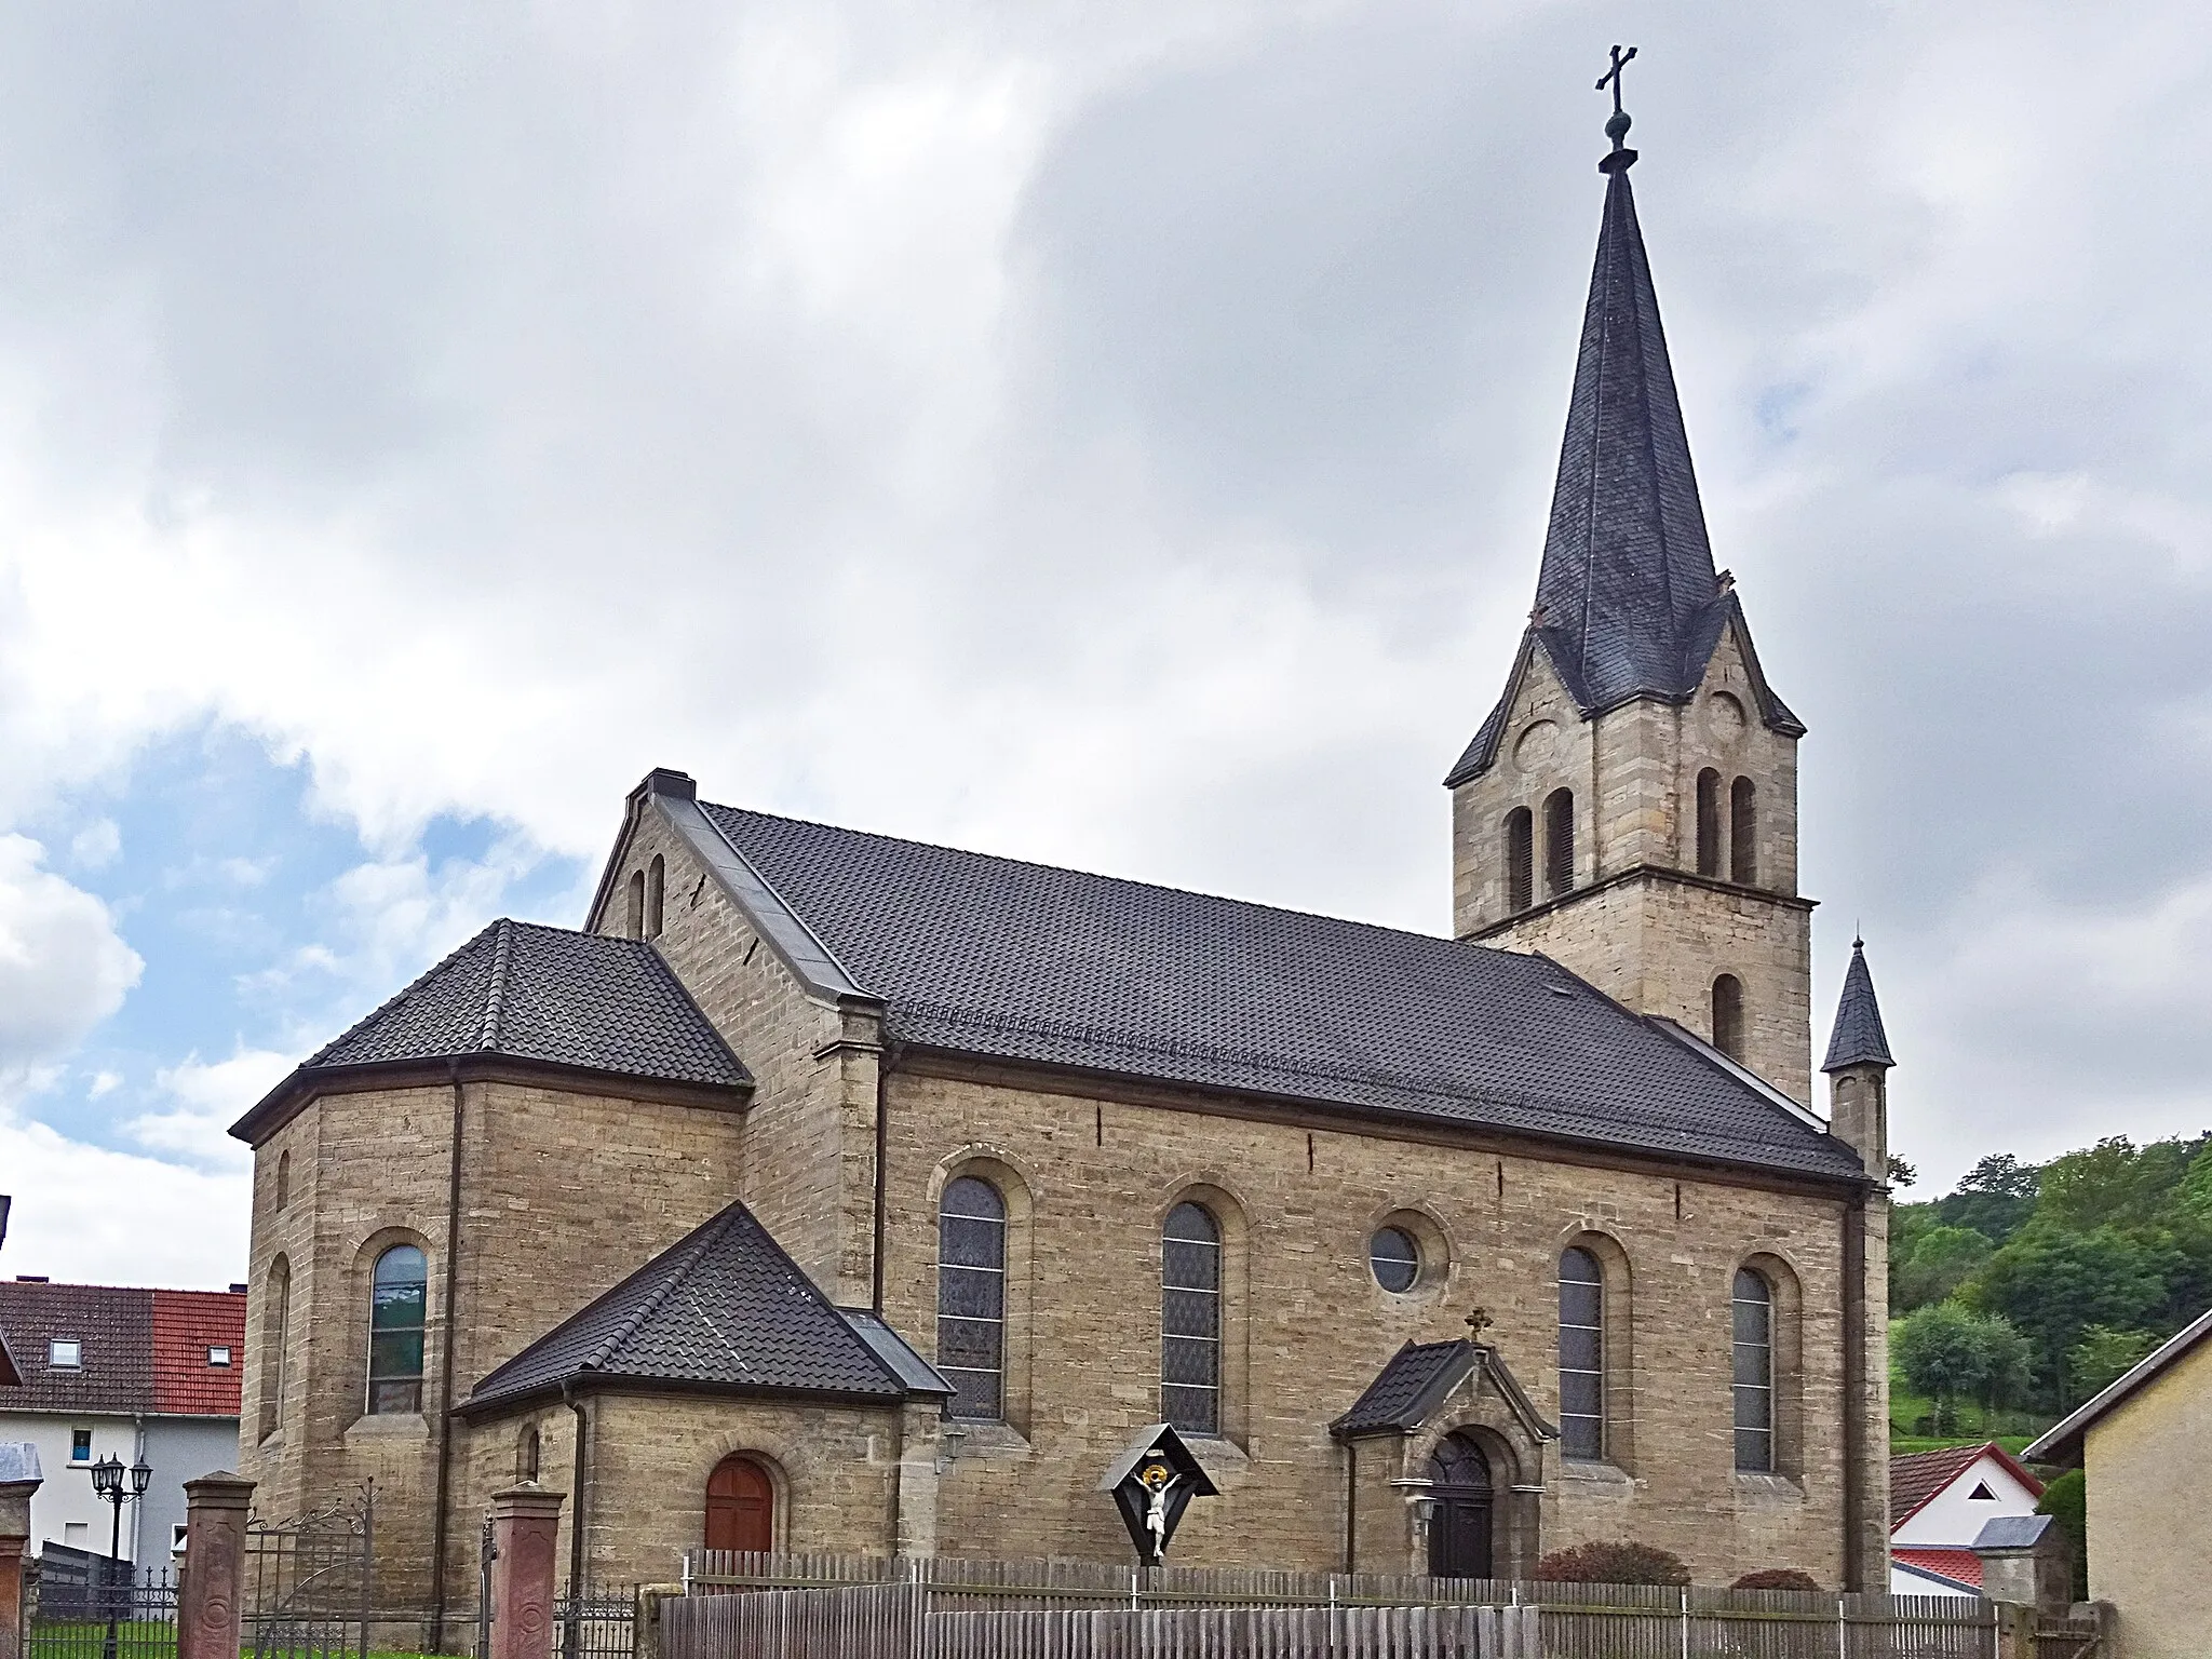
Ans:
{"label": "dark roof of the low annex with the arched red-brown door", "polygon": [[953,1391],[889,1325],[832,1307],[743,1203],[493,1369],[462,1411],[542,1396],[571,1378],[860,1400]]}

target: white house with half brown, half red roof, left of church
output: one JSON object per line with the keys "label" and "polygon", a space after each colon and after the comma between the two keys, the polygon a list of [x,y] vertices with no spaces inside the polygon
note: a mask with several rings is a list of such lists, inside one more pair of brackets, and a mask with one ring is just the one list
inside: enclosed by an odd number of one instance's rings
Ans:
{"label": "white house with half brown, half red roof, left of church", "polygon": [[0,1396],[0,1440],[38,1447],[46,1484],[31,1498],[31,1551],[108,1553],[111,1509],[93,1493],[100,1458],[153,1469],[122,1513],[122,1557],[164,1568],[184,1533],[184,1482],[239,1451],[246,1287],[126,1290],[0,1283],[22,1387]]}

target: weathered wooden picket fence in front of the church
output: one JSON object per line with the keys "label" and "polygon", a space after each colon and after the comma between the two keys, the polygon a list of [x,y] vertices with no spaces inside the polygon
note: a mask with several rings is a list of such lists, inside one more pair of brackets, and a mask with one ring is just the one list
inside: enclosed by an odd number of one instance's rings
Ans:
{"label": "weathered wooden picket fence in front of the church", "polygon": [[686,1557],[666,1659],[1995,1659],[1978,1597]]}

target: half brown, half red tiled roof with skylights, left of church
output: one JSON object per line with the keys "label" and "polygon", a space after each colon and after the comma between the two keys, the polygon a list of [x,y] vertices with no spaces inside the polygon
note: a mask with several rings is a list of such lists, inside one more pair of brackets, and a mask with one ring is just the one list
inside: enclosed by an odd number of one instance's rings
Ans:
{"label": "half brown, half red tiled roof with skylights, left of church", "polygon": [[[239,1416],[246,1363],[246,1296],[223,1290],[137,1290],[0,1281],[22,1389],[11,1411]],[[75,1343],[75,1369],[51,1363],[53,1343]],[[208,1347],[230,1347],[210,1367]]]}

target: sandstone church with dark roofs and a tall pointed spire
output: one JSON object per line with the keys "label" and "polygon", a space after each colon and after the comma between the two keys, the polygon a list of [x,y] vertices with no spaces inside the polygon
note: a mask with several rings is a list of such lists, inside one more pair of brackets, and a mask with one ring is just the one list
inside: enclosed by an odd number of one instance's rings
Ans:
{"label": "sandstone church with dark roofs and a tall pointed spire", "polygon": [[1168,1422],[1219,1489],[1181,1564],[1637,1540],[1887,1586],[1891,1057],[1856,953],[1816,1108],[1805,726],[1606,131],[1535,608],[1444,776],[1451,938],[655,770],[580,929],[493,922],[232,1128],[265,1515],[374,1480],[383,1593],[456,1619],[515,1480],[599,1584],[1126,1562],[1099,1478]]}

